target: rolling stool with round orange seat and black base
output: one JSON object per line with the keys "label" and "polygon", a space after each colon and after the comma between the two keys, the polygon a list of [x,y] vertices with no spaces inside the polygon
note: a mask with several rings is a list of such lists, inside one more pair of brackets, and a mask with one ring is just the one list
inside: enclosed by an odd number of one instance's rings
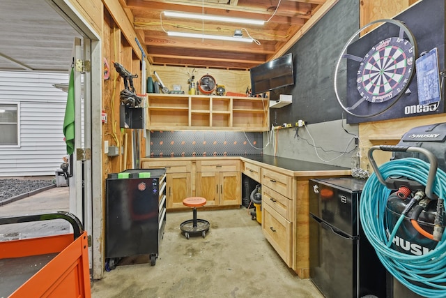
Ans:
{"label": "rolling stool with round orange seat and black base", "polygon": [[197,207],[201,207],[206,204],[206,199],[201,197],[190,197],[183,200],[183,205],[192,207],[194,218],[184,221],[180,225],[181,232],[185,235],[186,239],[190,236],[196,236],[201,234],[203,238],[206,236],[206,232],[209,230],[209,222],[204,219],[197,219]]}

